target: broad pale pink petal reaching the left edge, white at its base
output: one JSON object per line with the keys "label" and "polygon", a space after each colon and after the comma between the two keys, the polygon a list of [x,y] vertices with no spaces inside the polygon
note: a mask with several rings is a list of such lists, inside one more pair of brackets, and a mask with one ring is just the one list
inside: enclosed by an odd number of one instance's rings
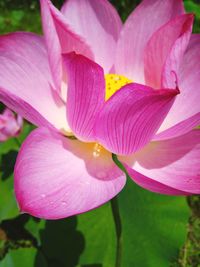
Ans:
{"label": "broad pale pink petal reaching the left edge, white at its base", "polygon": [[14,33],[0,37],[0,100],[30,122],[67,129],[65,106],[52,93],[42,37]]}

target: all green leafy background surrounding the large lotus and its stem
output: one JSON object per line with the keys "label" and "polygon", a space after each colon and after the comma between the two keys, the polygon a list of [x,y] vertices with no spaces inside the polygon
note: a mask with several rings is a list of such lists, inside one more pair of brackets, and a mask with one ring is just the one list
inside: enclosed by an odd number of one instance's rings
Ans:
{"label": "all green leafy background surrounding the large lotus and its stem", "polygon": [[[161,0],[164,1],[164,0]],[[62,0],[53,1],[57,7]],[[123,20],[139,0],[112,0]],[[199,1],[184,1],[196,15]],[[41,33],[39,3],[0,0],[0,33]],[[19,215],[13,193],[13,167],[33,127],[0,144],[0,267],[113,267],[116,235],[110,203],[64,220],[38,220]],[[122,219],[122,267],[200,267],[200,200],[198,196],[160,196],[129,181],[119,195]]]}

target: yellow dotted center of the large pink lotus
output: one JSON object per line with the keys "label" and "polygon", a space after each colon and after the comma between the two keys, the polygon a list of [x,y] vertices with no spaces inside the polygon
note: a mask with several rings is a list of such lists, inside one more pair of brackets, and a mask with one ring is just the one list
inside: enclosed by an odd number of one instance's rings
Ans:
{"label": "yellow dotted center of the large pink lotus", "polygon": [[128,78],[126,78],[125,76],[118,74],[106,74],[105,80],[106,80],[106,95],[105,95],[106,100],[108,100],[122,86],[133,82]]}

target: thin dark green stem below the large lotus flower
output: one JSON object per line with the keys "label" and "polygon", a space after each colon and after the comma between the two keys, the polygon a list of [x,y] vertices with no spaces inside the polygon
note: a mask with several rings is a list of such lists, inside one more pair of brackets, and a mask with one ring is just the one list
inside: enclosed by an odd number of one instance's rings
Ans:
{"label": "thin dark green stem below the large lotus flower", "polygon": [[117,249],[116,249],[116,259],[115,259],[115,267],[121,267],[121,259],[122,259],[122,223],[119,213],[119,205],[117,196],[111,199],[111,208],[113,220],[115,223],[115,231],[117,236]]}

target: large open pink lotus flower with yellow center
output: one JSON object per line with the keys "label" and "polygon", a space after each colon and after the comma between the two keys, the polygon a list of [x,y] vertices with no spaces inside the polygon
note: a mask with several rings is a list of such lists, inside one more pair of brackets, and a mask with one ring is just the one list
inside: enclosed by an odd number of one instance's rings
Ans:
{"label": "large open pink lotus flower with yellow center", "polygon": [[200,193],[200,36],[182,1],[144,0],[123,26],[106,0],[41,9],[45,41],[0,38],[0,99],[39,126],[15,165],[21,210],[57,219],[110,200],[126,181],[111,153],[148,190]]}

